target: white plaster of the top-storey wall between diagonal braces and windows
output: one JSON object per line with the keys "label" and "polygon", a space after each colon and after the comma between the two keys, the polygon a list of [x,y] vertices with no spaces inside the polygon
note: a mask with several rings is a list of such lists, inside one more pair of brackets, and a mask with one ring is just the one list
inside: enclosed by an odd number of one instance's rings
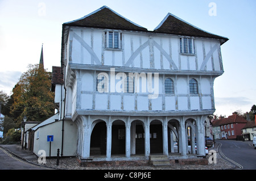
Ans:
{"label": "white plaster of the top-storey wall between diagonal braces and windows", "polygon": [[[104,49],[104,31],[105,30],[92,30],[91,28],[72,28],[73,33],[80,36],[81,39],[88,45],[90,49],[95,53],[97,60],[103,62],[103,65],[110,66],[124,66],[129,60],[131,55],[146,41],[154,40],[154,44],[158,44],[163,48],[164,52],[171,57],[177,68],[181,70],[199,70],[201,64],[204,61],[205,56],[207,56],[210,49],[214,45],[220,43],[213,39],[201,39],[195,38],[195,55],[185,56],[180,54],[179,50],[179,38],[180,36],[168,36],[161,33],[150,34],[150,33],[135,33],[129,31],[122,31],[122,49],[121,50],[106,50]],[[161,52],[155,45],[152,47],[152,52],[150,52],[150,43],[147,47],[142,49],[134,61],[129,65],[130,67],[136,68],[155,68],[155,69],[172,69],[170,62],[166,59],[163,52]],[[69,46],[67,46],[67,51]],[[70,53],[70,52],[67,52]],[[151,59],[153,60],[153,65],[150,65],[150,53]],[[220,56],[218,49],[214,50],[212,56],[210,56],[206,70],[220,71]],[[72,39],[72,60],[76,64],[92,64],[96,65],[96,61],[91,56],[90,52],[86,50],[80,44],[79,40],[73,37]]]}

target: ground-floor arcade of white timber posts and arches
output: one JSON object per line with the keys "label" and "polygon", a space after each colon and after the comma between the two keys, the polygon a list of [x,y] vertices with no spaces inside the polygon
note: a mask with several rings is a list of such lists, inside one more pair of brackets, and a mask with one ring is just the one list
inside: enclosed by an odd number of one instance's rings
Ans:
{"label": "ground-floor arcade of white timber posts and arches", "polygon": [[205,155],[206,117],[79,115],[75,120],[77,156],[88,159],[101,155],[111,161],[114,155],[128,159],[133,155],[148,158],[150,154]]}

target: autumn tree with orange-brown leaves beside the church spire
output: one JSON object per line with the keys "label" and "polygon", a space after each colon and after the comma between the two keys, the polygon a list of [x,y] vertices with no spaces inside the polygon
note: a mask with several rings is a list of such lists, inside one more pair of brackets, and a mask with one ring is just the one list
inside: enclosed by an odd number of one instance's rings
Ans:
{"label": "autumn tree with orange-brown leaves beside the church spire", "polygon": [[10,113],[16,123],[24,116],[28,121],[44,121],[54,113],[54,92],[51,91],[51,72],[43,66],[28,65],[13,89]]}

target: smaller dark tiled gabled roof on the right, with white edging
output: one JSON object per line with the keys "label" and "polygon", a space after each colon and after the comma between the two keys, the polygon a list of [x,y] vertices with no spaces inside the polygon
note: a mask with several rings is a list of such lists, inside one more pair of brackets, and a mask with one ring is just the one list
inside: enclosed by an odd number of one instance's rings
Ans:
{"label": "smaller dark tiled gabled roof on the right, with white edging", "polygon": [[185,22],[184,20],[178,18],[177,16],[171,13],[168,13],[166,15],[162,22],[154,29],[154,32],[221,39],[221,44],[229,40],[226,37],[214,35],[207,31],[201,30],[200,28],[197,28],[192,24]]}

